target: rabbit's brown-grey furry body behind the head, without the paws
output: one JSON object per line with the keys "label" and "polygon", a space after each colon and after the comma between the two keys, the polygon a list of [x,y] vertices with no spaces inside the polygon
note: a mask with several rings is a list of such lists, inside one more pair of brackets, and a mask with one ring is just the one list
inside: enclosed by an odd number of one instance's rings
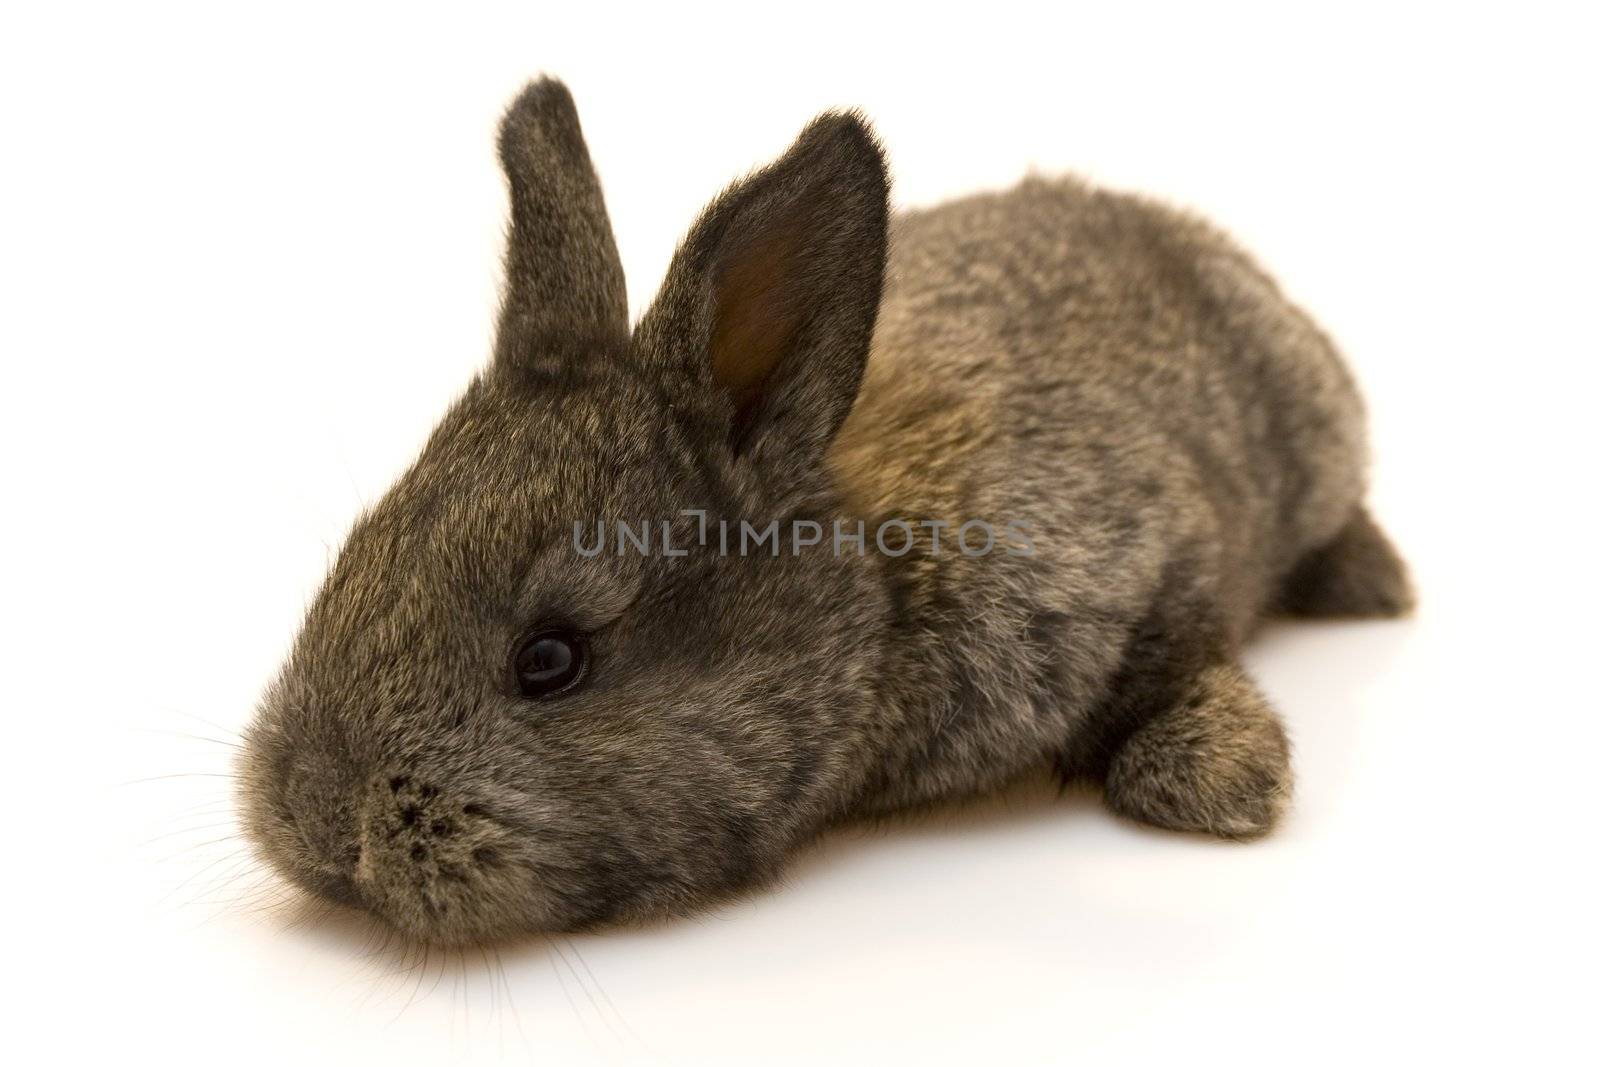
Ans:
{"label": "rabbit's brown-grey furry body behind the head, without the paws", "polygon": [[[1198,219],[1075,179],[898,216],[832,461],[869,523],[946,539],[885,560],[898,729],[862,803],[1102,765],[1350,522],[1365,448],[1333,344]],[[966,555],[974,518],[1029,552]]]}

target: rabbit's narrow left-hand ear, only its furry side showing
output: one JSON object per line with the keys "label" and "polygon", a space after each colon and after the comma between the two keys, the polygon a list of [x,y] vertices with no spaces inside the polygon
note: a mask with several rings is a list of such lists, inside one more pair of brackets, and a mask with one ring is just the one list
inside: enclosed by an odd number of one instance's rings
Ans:
{"label": "rabbit's narrow left-hand ear, only its furry side showing", "polygon": [[501,120],[499,157],[510,240],[496,360],[626,342],[622,264],[565,85],[541,78],[522,91]]}

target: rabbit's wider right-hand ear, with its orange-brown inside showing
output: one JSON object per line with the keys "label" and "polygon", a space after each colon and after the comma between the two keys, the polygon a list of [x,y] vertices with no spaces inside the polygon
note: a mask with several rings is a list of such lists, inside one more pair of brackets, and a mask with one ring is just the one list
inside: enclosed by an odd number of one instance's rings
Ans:
{"label": "rabbit's wider right-hand ear, with its orange-brown inside showing", "polygon": [[709,386],[736,453],[779,477],[803,474],[861,386],[886,227],[882,149],[858,115],[826,114],[706,208],[635,349]]}

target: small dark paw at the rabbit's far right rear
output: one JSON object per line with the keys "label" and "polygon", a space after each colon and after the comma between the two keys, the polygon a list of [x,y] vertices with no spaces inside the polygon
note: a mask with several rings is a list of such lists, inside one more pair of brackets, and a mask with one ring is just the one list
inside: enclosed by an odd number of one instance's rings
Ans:
{"label": "small dark paw at the rabbit's far right rear", "polygon": [[1394,617],[1416,606],[1405,561],[1365,507],[1283,581],[1278,608],[1307,617]]}

